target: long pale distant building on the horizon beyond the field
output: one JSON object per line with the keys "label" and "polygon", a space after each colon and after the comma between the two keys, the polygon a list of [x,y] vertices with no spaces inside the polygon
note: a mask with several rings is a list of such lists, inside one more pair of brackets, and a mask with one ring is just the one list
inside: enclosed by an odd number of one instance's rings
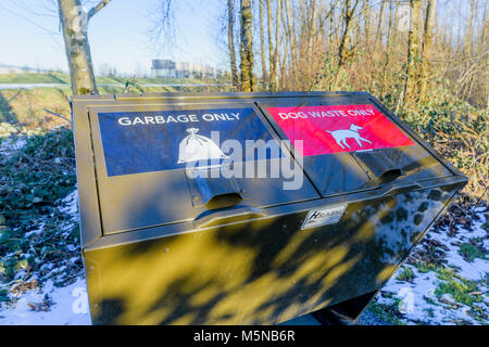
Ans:
{"label": "long pale distant building on the horizon beyond the field", "polygon": [[151,76],[154,78],[217,78],[223,74],[223,70],[209,65],[167,59],[154,59],[151,65]]}

